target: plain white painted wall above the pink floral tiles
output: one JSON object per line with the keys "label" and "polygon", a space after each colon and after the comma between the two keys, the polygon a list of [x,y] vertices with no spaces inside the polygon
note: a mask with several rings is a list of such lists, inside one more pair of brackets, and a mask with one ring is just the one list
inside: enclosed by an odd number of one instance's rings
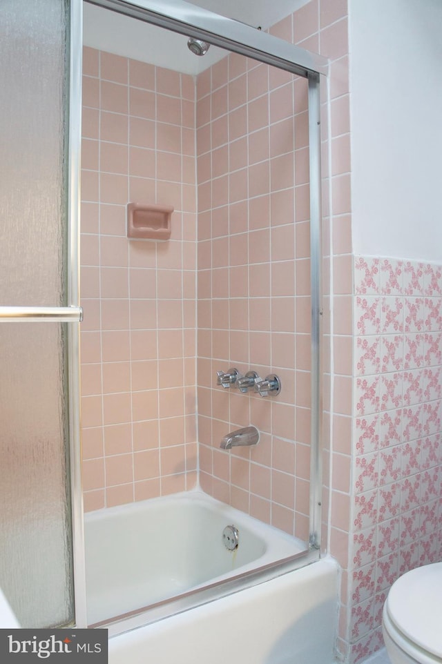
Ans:
{"label": "plain white painted wall above the pink floral tiles", "polygon": [[442,262],[442,0],[349,0],[353,248]]}

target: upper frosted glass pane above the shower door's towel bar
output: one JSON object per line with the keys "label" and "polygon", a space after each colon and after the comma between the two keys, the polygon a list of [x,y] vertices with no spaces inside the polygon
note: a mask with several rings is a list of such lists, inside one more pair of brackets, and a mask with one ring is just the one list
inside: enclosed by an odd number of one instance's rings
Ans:
{"label": "upper frosted glass pane above the shower door's towel bar", "polygon": [[0,3],[0,304],[64,304],[68,3]]}

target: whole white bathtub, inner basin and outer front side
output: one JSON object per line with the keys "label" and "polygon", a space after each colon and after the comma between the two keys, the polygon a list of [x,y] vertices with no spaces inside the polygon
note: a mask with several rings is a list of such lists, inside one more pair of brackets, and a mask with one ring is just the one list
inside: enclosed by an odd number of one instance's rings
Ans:
{"label": "whole white bathtub, inner basin and outer front side", "polygon": [[85,542],[109,664],[333,661],[334,560],[200,491],[86,514]]}

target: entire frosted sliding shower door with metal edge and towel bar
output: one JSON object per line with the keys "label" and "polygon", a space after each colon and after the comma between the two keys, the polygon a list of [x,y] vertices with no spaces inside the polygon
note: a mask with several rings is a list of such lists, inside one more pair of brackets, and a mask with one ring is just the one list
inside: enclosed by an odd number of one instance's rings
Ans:
{"label": "entire frosted sliding shower door with metal edge and towel bar", "polygon": [[0,587],[22,627],[71,625],[82,611],[80,21],[77,0],[0,3]]}

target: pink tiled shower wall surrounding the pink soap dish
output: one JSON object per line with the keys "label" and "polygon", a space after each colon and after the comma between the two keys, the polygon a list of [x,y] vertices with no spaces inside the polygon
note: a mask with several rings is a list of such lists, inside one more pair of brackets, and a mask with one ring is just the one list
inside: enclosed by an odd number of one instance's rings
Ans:
{"label": "pink tiled shower wall surrounding the pink soap dish", "polygon": [[[84,50],[81,389],[86,509],[195,486],[191,77]],[[173,205],[168,242],[126,204]]]}

